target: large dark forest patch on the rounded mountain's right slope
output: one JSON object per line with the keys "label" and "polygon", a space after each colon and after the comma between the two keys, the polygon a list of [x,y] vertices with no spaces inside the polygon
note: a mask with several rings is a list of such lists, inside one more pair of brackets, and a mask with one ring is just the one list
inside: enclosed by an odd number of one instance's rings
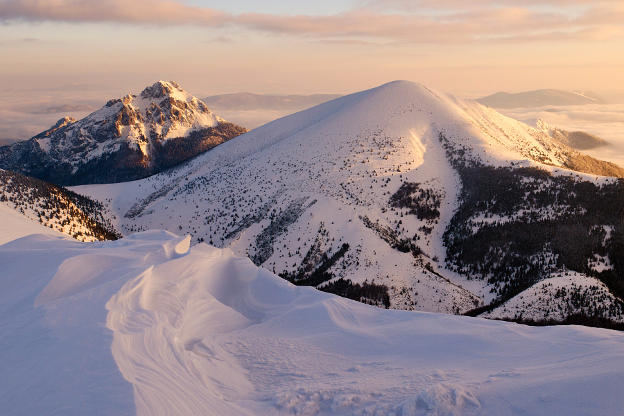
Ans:
{"label": "large dark forest patch on the rounded mountain's right slope", "polygon": [[[440,133],[451,165],[460,175],[460,205],[444,232],[447,268],[482,279],[503,304],[538,281],[568,270],[595,277],[603,291],[562,291],[571,311],[621,320],[624,314],[624,180],[603,185],[575,175],[553,175],[539,168],[486,166]],[[605,263],[606,259],[606,263]],[[598,267],[603,263],[605,267]],[[598,301],[598,302],[597,302]]]}

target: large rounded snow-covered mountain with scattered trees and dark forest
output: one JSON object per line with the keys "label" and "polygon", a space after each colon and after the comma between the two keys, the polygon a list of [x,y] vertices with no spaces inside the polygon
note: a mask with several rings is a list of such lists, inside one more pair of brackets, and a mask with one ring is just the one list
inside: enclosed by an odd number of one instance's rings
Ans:
{"label": "large rounded snow-covered mountain with scattered trees and dark forest", "polygon": [[[587,173],[566,167],[578,158]],[[122,234],[190,234],[377,306],[564,319],[571,304],[621,321],[624,182],[598,177],[605,166],[491,108],[401,81],[284,117],[166,173],[75,190],[112,201]],[[564,277],[558,303],[523,297]]]}

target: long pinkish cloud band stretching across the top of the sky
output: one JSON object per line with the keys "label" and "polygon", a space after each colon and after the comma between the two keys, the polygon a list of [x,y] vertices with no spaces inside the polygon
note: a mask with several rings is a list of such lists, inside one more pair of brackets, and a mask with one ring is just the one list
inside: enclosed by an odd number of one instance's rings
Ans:
{"label": "long pinkish cloud band stretching across the top of the sky", "polygon": [[3,0],[0,21],[235,26],[324,41],[541,42],[624,37],[620,0],[374,0],[338,15],[270,15],[175,0]]}

